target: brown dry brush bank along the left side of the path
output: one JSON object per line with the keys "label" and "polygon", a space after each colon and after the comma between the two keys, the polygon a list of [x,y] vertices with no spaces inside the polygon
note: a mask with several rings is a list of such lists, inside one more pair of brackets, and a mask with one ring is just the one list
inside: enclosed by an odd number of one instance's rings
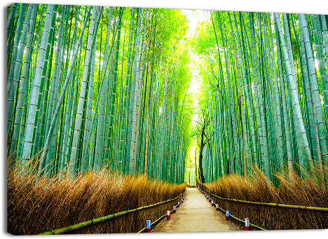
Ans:
{"label": "brown dry brush bank along the left side of the path", "polygon": [[[152,181],[142,175],[123,177],[98,170],[74,179],[66,175],[36,176],[7,163],[7,231],[13,235],[35,235],[108,214],[131,210],[177,197],[184,184]],[[145,220],[155,221],[172,210],[181,197],[170,203],[125,214],[93,224],[70,234],[136,233]]]}

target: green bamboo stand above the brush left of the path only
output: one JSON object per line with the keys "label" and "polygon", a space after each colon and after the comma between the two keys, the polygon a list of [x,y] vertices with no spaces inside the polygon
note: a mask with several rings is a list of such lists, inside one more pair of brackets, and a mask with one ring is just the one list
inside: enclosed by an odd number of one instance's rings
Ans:
{"label": "green bamboo stand above the brush left of the path only", "polygon": [[7,10],[7,156],[14,165],[38,177],[107,168],[184,182],[191,111],[180,99],[190,102],[191,75],[180,11]]}

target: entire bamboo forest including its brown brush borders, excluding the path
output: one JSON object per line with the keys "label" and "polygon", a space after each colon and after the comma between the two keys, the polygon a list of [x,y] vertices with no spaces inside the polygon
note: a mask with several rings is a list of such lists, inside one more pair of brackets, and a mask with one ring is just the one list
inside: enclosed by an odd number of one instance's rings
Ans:
{"label": "entire bamboo forest including its brown brush borders, excluding the path", "polygon": [[7,233],[146,232],[192,188],[252,230],[327,229],[327,26],[7,6]]}

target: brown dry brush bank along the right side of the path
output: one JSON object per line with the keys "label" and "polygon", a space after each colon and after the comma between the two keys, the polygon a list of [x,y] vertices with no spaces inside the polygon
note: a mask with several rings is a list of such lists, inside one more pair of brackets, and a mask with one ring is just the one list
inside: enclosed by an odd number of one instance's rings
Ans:
{"label": "brown dry brush bank along the right side of the path", "polygon": [[[251,175],[229,175],[218,179],[217,182],[202,184],[200,186],[221,198],[235,198],[262,203],[279,203],[288,205],[301,205],[312,207],[328,207],[327,185],[320,179],[327,172],[317,172],[319,179],[313,179],[305,173],[301,179],[292,172],[290,177],[285,173],[276,175],[279,186],[275,187],[266,179],[261,170],[254,168]],[[239,219],[250,218],[250,223],[268,230],[303,230],[327,229],[328,212],[291,209],[285,207],[271,207],[268,205],[254,205],[239,203],[231,200],[221,200],[211,197],[215,203]],[[241,226],[241,222],[235,220]],[[255,229],[255,228],[252,228]]]}

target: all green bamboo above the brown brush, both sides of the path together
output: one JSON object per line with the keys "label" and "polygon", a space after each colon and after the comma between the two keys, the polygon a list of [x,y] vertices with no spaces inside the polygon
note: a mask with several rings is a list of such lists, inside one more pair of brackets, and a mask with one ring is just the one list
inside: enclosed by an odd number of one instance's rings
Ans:
{"label": "all green bamboo above the brown brush, both sides of the path together", "polygon": [[327,186],[327,15],[207,13],[189,38],[179,9],[8,6],[7,157],[38,177],[182,183],[197,165],[202,182],[257,167]]}

